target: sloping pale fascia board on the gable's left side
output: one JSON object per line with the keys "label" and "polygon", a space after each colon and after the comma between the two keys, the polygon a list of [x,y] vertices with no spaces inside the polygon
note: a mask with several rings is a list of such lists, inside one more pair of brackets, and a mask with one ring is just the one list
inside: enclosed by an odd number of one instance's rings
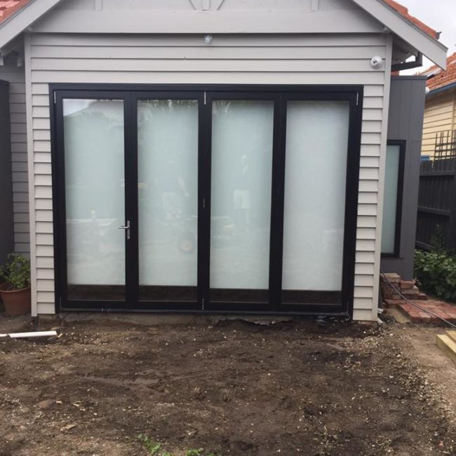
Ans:
{"label": "sloping pale fascia board on the gable's left side", "polygon": [[58,4],[60,0],[32,0],[0,25],[0,48],[24,32],[27,27]]}

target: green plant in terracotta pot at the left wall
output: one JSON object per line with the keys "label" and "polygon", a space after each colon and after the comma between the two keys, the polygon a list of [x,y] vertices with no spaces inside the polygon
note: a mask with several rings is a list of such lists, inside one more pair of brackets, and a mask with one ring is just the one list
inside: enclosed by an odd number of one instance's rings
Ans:
{"label": "green plant in terracotta pot at the left wall", "polygon": [[11,253],[8,262],[0,270],[6,286],[0,289],[6,314],[9,316],[28,314],[32,298],[30,295],[30,262],[22,255]]}

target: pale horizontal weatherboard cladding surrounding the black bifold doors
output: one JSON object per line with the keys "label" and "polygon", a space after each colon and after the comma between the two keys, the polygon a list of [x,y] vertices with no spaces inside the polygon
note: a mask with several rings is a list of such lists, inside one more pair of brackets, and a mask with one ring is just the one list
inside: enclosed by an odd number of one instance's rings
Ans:
{"label": "pale horizontal weatherboard cladding surrounding the black bifold doors", "polygon": [[[358,84],[364,86],[354,318],[377,314],[376,232],[388,56],[382,34],[217,36],[33,34],[32,90],[38,312],[54,311],[48,83]],[[388,75],[389,76],[389,75]]]}

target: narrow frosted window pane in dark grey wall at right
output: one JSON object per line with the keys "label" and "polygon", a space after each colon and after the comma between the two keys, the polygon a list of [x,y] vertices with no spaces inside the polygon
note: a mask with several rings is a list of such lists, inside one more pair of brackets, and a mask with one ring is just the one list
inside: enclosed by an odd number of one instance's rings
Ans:
{"label": "narrow frosted window pane in dark grey wall at right", "polygon": [[394,253],[401,147],[387,147],[387,169],[384,177],[382,253]]}

